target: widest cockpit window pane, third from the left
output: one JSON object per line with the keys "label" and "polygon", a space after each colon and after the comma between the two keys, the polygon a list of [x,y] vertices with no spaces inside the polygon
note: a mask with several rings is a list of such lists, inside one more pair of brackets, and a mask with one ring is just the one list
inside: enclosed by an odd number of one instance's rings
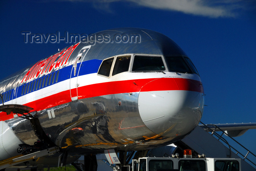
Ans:
{"label": "widest cockpit window pane, third from the left", "polygon": [[138,56],[133,60],[132,71],[164,71],[165,65],[161,57]]}

